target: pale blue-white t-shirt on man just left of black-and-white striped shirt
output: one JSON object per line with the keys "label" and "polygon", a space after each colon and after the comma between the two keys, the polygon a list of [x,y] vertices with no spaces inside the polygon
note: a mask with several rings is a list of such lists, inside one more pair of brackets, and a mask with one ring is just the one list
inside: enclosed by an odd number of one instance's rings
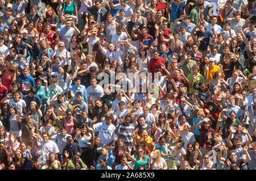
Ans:
{"label": "pale blue-white t-shirt on man just left of black-and-white striped shirt", "polygon": [[109,142],[113,141],[115,135],[115,126],[113,124],[97,123],[93,125],[93,129],[94,132],[99,132],[98,136],[101,138],[103,145],[108,145]]}

